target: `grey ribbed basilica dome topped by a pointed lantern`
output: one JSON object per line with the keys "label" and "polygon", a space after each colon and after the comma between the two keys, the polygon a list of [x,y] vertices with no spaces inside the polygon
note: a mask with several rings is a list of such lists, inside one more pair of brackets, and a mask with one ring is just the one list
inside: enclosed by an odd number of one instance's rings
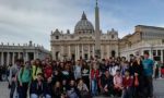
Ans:
{"label": "grey ribbed basilica dome topped by a pointed lantern", "polygon": [[75,34],[92,34],[94,27],[90,21],[87,21],[85,13],[83,12],[81,20],[77,23],[74,28]]}

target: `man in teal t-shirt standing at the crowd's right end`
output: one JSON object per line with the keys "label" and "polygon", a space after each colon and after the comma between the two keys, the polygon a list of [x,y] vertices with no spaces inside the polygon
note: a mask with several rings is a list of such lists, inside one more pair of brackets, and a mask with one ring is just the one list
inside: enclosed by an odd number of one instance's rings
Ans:
{"label": "man in teal t-shirt standing at the crowd's right end", "polygon": [[142,61],[143,64],[143,75],[144,75],[144,82],[145,82],[145,91],[147,97],[152,98],[153,97],[153,60],[149,59],[149,52],[144,52],[144,60]]}

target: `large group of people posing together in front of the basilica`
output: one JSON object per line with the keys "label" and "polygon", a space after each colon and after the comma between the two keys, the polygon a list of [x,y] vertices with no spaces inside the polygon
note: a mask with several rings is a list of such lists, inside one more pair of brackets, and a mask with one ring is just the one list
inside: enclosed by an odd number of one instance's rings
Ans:
{"label": "large group of people posing together in front of the basilica", "polygon": [[19,59],[9,68],[10,98],[152,98],[153,65],[148,52],[129,61]]}

